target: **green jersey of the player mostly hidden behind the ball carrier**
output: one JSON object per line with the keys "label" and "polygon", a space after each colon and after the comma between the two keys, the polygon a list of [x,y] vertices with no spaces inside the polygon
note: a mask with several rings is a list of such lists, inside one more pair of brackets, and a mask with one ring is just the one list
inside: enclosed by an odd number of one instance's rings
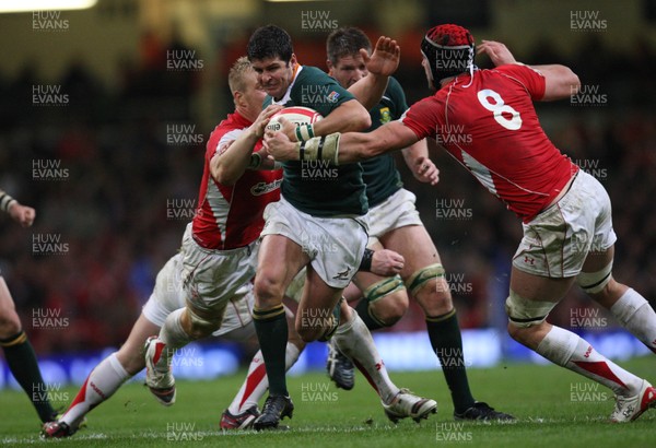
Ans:
{"label": "green jersey of the player mostly hidden behind the ball carrier", "polygon": [[[386,122],[399,119],[407,108],[406,94],[401,89],[401,84],[394,78],[389,78],[387,90],[383,94],[380,103],[370,110],[372,127],[366,132],[371,132]],[[361,165],[364,168],[362,178],[366,184],[366,199],[370,208],[379,204],[403,186],[391,153],[368,158],[361,162]]]}

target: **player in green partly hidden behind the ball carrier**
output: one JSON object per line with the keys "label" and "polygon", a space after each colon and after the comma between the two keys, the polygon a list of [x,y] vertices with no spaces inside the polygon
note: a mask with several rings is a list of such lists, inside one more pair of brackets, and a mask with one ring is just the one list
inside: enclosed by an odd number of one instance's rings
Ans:
{"label": "player in green partly hidden behind the ball carrier", "polygon": [[[327,39],[328,74],[342,87],[368,75],[360,49],[371,51],[368,37],[359,28],[333,31]],[[398,81],[390,76],[380,102],[370,109],[372,126],[368,131],[397,120],[408,109],[406,95]],[[429,158],[425,139],[402,150],[403,158],[413,176],[422,182],[436,185],[438,170]],[[454,415],[458,420],[512,420],[484,402],[476,401],[467,379],[462,353],[462,338],[454,308],[450,290],[440,254],[414,208],[415,197],[403,188],[393,154],[382,154],[363,161],[363,179],[370,204],[370,248],[388,248],[406,260],[400,275],[382,278],[370,272],[358,272],[353,283],[362,291],[356,310],[366,327],[373,331],[391,327],[408,309],[408,295],[424,311],[426,330],[434,353],[450,390]],[[408,294],[408,288],[409,293]],[[328,373],[336,385],[352,389],[353,364],[331,341]]]}

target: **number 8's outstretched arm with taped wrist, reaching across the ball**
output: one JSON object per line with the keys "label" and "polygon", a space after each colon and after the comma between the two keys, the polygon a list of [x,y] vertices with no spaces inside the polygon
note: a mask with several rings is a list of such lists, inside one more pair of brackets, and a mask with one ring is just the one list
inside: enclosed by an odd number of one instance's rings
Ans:
{"label": "number 8's outstretched arm with taped wrist, reaching across the ball", "polygon": [[265,134],[265,146],[277,161],[323,160],[335,165],[402,150],[417,141],[414,132],[400,121],[388,122],[372,132],[332,133],[303,143],[292,142],[283,132]]}

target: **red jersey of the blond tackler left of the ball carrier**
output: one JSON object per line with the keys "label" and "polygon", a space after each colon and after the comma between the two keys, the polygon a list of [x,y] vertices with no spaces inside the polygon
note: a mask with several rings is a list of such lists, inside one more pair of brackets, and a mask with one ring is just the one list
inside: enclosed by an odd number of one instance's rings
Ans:
{"label": "red jersey of the blond tackler left of the ball carrier", "polygon": [[[244,132],[251,122],[234,113],[219,123],[207,144],[198,211],[194,217],[194,239],[207,248],[229,250],[256,240],[265,226],[262,213],[270,202],[280,200],[282,170],[247,169],[235,185],[215,181],[210,161]],[[255,152],[261,149],[257,143]]]}

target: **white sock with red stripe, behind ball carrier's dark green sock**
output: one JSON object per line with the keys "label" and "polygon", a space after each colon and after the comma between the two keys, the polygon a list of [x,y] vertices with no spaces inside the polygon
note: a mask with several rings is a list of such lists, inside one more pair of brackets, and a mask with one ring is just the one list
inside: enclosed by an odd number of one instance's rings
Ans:
{"label": "white sock with red stripe, behind ball carrier's dark green sock", "polygon": [[[294,363],[296,363],[300,354],[301,351],[298,347],[291,342],[288,342],[286,350],[284,352],[285,370],[289,370]],[[253,356],[253,361],[248,367],[248,375],[246,375],[246,380],[244,384],[242,384],[242,388],[233,399],[232,403],[230,403],[230,406],[227,406],[227,410],[231,414],[238,415],[248,408],[254,405],[257,406],[268,388],[269,378],[267,377],[265,359],[262,357],[262,352],[258,351],[255,356]]]}

